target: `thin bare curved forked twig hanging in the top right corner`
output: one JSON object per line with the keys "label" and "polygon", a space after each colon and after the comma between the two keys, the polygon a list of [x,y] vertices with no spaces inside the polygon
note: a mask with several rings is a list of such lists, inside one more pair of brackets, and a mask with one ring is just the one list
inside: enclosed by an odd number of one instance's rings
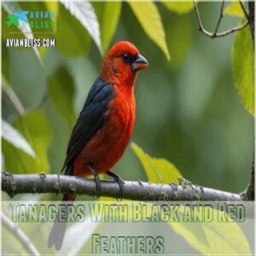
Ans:
{"label": "thin bare curved forked twig hanging in the top right corner", "polygon": [[196,17],[197,17],[197,20],[198,20],[198,23],[199,23],[199,30],[201,32],[203,32],[207,37],[209,38],[222,38],[222,37],[225,37],[233,32],[236,32],[236,31],[239,31],[241,29],[243,29],[244,27],[246,27],[248,25],[248,20],[242,24],[241,26],[236,26],[236,27],[232,27],[230,28],[229,30],[226,30],[224,32],[218,32],[218,26],[220,24],[220,21],[222,20],[223,18],[223,11],[224,11],[224,0],[221,4],[221,9],[220,9],[220,15],[219,15],[219,18],[218,18],[218,23],[217,23],[217,26],[215,28],[215,31],[214,32],[208,32],[204,26],[202,25],[202,21],[201,21],[201,15],[199,13],[199,9],[197,7],[197,4],[195,2],[195,0],[193,0],[194,2],[194,6],[195,6],[195,13],[196,13]]}

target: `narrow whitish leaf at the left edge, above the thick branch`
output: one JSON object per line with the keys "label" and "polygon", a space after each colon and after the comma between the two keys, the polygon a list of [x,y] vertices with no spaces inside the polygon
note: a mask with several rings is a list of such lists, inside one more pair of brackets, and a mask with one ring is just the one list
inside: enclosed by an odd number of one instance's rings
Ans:
{"label": "narrow whitish leaf at the left edge, above the thick branch", "polygon": [[8,143],[11,143],[15,148],[20,148],[26,154],[31,155],[33,158],[36,157],[36,154],[30,144],[26,139],[17,131],[12,125],[9,125],[7,122],[2,120],[2,137]]}

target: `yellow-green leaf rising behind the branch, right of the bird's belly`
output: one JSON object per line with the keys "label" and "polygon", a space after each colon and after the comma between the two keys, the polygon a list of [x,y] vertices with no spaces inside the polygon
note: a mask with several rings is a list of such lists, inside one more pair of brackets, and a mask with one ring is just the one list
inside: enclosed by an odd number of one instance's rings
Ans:
{"label": "yellow-green leaf rising behind the branch, right of the bird's belly", "polygon": [[149,156],[138,147],[136,143],[131,143],[131,148],[141,161],[148,180],[152,183],[178,183],[178,177],[182,175],[177,168],[165,159],[158,159]]}

